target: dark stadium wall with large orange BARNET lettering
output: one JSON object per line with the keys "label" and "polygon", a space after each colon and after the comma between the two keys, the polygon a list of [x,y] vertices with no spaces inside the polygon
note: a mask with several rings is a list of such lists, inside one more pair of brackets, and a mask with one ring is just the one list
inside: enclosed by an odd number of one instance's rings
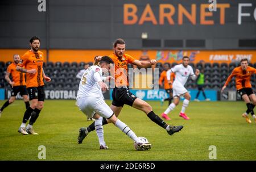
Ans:
{"label": "dark stadium wall with large orange BARNET lettering", "polygon": [[0,48],[256,49],[256,1],[214,2],[2,0]]}

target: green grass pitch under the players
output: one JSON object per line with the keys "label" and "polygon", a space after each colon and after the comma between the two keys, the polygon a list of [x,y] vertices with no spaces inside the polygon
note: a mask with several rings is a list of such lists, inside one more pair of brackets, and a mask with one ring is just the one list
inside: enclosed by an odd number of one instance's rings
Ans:
{"label": "green grass pitch under the players", "polygon": [[[0,101],[1,106],[4,102]],[[149,103],[159,115],[167,107],[167,102],[164,106]],[[152,144],[150,151],[138,152],[133,141],[113,124],[104,125],[109,150],[99,150],[95,131],[77,144],[79,128],[91,121],[86,121],[75,100],[46,100],[34,124],[39,135],[20,135],[25,106],[22,100],[16,100],[0,118],[0,160],[39,160],[40,145],[46,146],[46,160],[209,160],[210,145],[217,147],[217,160],[256,160],[256,123],[247,124],[241,117],[245,103],[191,102],[187,108],[191,120],[179,117],[180,108],[181,104],[171,112],[168,123],[184,128],[172,136],[143,112],[123,108],[119,119]]]}

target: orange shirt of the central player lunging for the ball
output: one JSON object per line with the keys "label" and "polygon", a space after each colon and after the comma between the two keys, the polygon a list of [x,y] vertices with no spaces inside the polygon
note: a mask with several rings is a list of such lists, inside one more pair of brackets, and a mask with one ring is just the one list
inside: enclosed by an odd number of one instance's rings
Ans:
{"label": "orange shirt of the central player lunging for the ball", "polygon": [[119,59],[114,53],[109,55],[115,64],[115,86],[129,86],[128,83],[128,64],[132,64],[136,59],[128,54],[123,54]]}

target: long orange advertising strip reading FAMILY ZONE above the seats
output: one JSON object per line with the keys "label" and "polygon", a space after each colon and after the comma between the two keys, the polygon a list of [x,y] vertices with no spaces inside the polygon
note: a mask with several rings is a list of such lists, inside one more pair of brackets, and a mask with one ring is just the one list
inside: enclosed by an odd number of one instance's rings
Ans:
{"label": "long orange advertising strip reading FAMILY ZONE above the seats", "polygon": [[[27,49],[0,49],[0,61],[13,61],[13,54],[22,56]],[[46,60],[46,50],[42,50]],[[69,49],[51,49],[49,50],[49,61],[52,62],[91,62],[95,56],[109,55],[113,51],[109,50],[69,50]],[[127,54],[137,58],[148,57],[156,59],[159,62],[181,62],[183,56],[188,56],[191,62],[217,62],[230,63],[239,62],[242,58],[247,58],[251,63],[256,62],[256,50],[239,50],[239,51],[141,51],[141,50],[127,50]]]}

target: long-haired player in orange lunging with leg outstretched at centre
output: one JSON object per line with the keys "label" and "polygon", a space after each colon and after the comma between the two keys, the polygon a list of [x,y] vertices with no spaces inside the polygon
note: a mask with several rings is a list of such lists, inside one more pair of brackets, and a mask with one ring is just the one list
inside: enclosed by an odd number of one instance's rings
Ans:
{"label": "long-haired player in orange lunging with leg outstretched at centre", "polygon": [[[179,132],[183,128],[182,125],[174,126],[166,124],[158,115],[155,114],[150,104],[135,97],[129,89],[127,72],[128,64],[137,65],[139,68],[150,68],[152,65],[156,64],[156,60],[139,61],[129,54],[125,54],[125,41],[122,39],[115,40],[113,44],[113,53],[110,54],[109,57],[112,58],[115,66],[115,87],[112,92],[113,101],[110,106],[114,114],[118,116],[123,106],[127,104],[133,108],[143,111],[150,120],[164,128],[169,135]],[[102,119],[102,124],[108,124],[108,121],[104,118]],[[94,129],[94,123],[90,124],[87,128],[80,128],[77,142],[81,144],[82,140],[84,140],[88,133]]]}

